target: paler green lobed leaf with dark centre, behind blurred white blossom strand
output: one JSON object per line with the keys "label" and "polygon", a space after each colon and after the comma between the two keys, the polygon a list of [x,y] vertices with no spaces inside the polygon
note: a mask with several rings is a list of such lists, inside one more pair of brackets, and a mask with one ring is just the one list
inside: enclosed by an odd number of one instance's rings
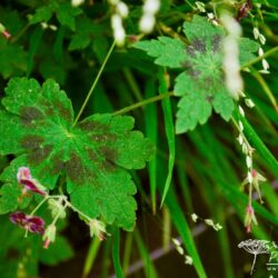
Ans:
{"label": "paler green lobed leaf with dark centre, behind blurred white blossom strand", "polygon": [[[195,16],[191,22],[185,22],[183,32],[188,44],[179,39],[159,37],[158,40],[139,41],[136,48],[155,57],[155,62],[162,67],[181,68],[176,78],[175,96],[178,103],[176,131],[182,133],[203,125],[212,109],[229,120],[234,101],[229,96],[222,72],[222,40],[225,30],[212,26],[206,18]],[[258,43],[241,38],[239,40],[240,62],[255,58]]]}

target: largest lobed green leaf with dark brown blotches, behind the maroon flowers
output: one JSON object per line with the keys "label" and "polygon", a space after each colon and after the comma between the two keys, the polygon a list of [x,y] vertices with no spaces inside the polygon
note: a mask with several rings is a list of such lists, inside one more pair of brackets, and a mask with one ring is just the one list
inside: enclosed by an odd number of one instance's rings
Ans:
{"label": "largest lobed green leaf with dark brown blotches, behind the maroon flowers", "polygon": [[[141,169],[153,153],[152,143],[132,131],[133,119],[92,115],[73,126],[71,102],[53,80],[40,87],[33,79],[12,79],[6,93],[1,155],[19,156],[1,176],[2,190],[17,187],[20,166],[30,166],[49,189],[64,173],[72,205],[91,218],[131,230],[136,188],[125,168]],[[0,200],[1,211],[14,210],[18,195],[3,195]]]}

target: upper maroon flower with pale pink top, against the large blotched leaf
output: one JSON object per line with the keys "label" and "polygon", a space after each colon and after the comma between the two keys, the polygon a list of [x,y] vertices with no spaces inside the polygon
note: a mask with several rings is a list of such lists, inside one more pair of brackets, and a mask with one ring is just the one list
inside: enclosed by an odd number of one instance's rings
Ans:
{"label": "upper maroon flower with pale pink top, against the large blotched leaf", "polygon": [[32,178],[30,169],[28,167],[20,167],[18,169],[17,178],[18,182],[24,186],[23,193],[29,190],[42,196],[47,195],[46,188],[40,185],[38,180]]}

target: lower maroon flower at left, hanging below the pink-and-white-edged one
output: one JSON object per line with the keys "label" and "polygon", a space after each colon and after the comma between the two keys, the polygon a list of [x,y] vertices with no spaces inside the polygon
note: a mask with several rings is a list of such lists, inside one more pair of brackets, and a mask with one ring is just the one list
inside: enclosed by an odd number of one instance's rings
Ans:
{"label": "lower maroon flower at left, hanging below the pink-and-white-edged one", "polygon": [[38,216],[27,216],[21,211],[10,215],[10,220],[19,227],[42,235],[44,232],[44,220]]}

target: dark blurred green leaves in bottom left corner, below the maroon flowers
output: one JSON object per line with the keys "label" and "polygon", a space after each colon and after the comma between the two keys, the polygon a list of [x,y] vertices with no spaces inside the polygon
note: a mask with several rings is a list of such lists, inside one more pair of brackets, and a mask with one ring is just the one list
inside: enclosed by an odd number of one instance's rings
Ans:
{"label": "dark blurred green leaves in bottom left corner, below the maroon flowers", "polygon": [[[56,242],[46,250],[40,245],[39,236],[30,236],[22,240],[23,232],[21,229],[14,229],[7,217],[0,219],[2,231],[0,235],[0,260],[6,262],[0,264],[0,277],[14,278],[20,272],[28,277],[37,276],[39,261],[53,266],[73,256],[73,250],[64,237],[59,236]],[[12,258],[10,258],[9,250],[13,252]],[[21,260],[20,266],[19,260]]]}

